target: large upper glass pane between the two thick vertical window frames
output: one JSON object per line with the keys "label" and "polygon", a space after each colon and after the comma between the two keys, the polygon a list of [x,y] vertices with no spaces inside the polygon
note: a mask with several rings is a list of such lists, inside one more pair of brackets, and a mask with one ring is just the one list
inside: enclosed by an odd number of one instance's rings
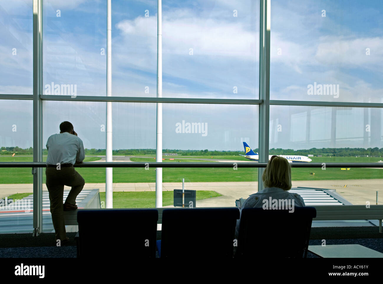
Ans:
{"label": "large upper glass pane between the two thick vertical window frames", "polygon": [[[258,98],[259,5],[163,5],[163,96]],[[43,23],[44,94],[105,95],[106,3],[46,0]],[[112,27],[113,96],[155,97],[157,4],[113,2]]]}

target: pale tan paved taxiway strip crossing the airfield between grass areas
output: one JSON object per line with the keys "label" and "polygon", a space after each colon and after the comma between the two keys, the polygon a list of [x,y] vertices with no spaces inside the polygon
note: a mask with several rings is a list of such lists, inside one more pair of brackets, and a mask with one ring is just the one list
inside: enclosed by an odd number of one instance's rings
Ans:
{"label": "pale tan paved taxiway strip crossing the airfield between grass areas", "polygon": [[[293,181],[293,188],[320,188],[332,189],[349,202],[355,205],[365,205],[366,202],[375,204],[376,191],[378,191],[378,204],[383,204],[383,180],[319,180],[319,181]],[[105,192],[105,183],[85,183],[84,189],[98,188]],[[70,187],[65,186],[64,190]],[[182,189],[180,183],[162,183],[163,191]],[[194,182],[185,183],[185,189],[212,190],[223,196],[209,198],[199,201],[206,206],[232,206],[236,199],[247,198],[257,192],[257,181],[236,181],[236,182]],[[47,191],[43,184],[43,191]],[[155,183],[113,183],[113,191],[155,191]],[[0,184],[0,197],[9,196],[14,193],[32,193],[33,184]],[[213,203],[212,203],[213,202]]]}

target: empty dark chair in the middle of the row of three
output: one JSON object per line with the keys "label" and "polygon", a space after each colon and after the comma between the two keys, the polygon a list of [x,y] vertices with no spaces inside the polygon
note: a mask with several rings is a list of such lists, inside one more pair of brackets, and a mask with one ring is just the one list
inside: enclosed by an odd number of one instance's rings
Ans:
{"label": "empty dark chair in the middle of the row of three", "polygon": [[162,212],[161,258],[233,257],[239,209],[164,209]]}

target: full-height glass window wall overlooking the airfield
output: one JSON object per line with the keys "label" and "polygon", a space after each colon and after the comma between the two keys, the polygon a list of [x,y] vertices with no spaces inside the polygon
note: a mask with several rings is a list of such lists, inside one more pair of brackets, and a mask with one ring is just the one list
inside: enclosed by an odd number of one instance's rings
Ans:
{"label": "full-height glass window wall overlooking the airfield", "polygon": [[[33,93],[32,3],[0,3],[0,99]],[[162,103],[162,162],[233,164],[163,168],[163,205],[173,206],[172,191],[182,188],[182,179],[185,189],[197,191],[194,207],[234,206],[235,199],[255,193],[258,169],[235,166],[256,162],[242,156],[243,142],[257,153],[260,140],[269,139],[269,154],[289,156],[292,162],[382,162],[382,109],[331,105],[382,102],[382,11],[380,1],[367,6],[357,0],[271,1],[270,100],[292,102],[272,102],[266,121],[269,137],[259,137],[264,102],[205,104],[203,99],[259,98],[260,1],[162,3],[162,96],[201,99]],[[106,13],[105,1],[43,0],[43,95],[71,100],[105,96]],[[111,15],[112,96],[156,97],[157,3],[113,1]],[[329,104],[295,106],[300,101]],[[0,100],[0,162],[33,161],[33,133],[38,129],[33,129],[32,112],[32,100]],[[59,133],[62,121],[72,122],[83,140],[84,162],[106,160],[105,102],[44,98],[41,116],[43,162],[47,139]],[[156,161],[156,119],[156,103],[113,102],[113,161]],[[76,170],[85,179],[83,194],[98,189],[105,206],[105,168]],[[31,198],[30,168],[0,172],[0,185],[6,189],[0,197]],[[293,167],[293,188],[306,188],[308,205],[313,201],[309,188],[336,193],[343,204],[365,204],[381,190],[382,173],[380,168]],[[113,168],[113,207],[154,207],[155,181],[152,167]],[[43,173],[46,232],[53,230],[49,214]],[[28,223],[23,228],[30,232],[31,227]]]}

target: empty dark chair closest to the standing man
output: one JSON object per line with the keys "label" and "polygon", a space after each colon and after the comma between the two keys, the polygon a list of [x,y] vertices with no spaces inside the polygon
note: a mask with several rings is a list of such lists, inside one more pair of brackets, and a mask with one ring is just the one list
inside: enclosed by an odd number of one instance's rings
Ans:
{"label": "empty dark chair closest to the standing man", "polygon": [[79,210],[79,257],[155,258],[157,209]]}

